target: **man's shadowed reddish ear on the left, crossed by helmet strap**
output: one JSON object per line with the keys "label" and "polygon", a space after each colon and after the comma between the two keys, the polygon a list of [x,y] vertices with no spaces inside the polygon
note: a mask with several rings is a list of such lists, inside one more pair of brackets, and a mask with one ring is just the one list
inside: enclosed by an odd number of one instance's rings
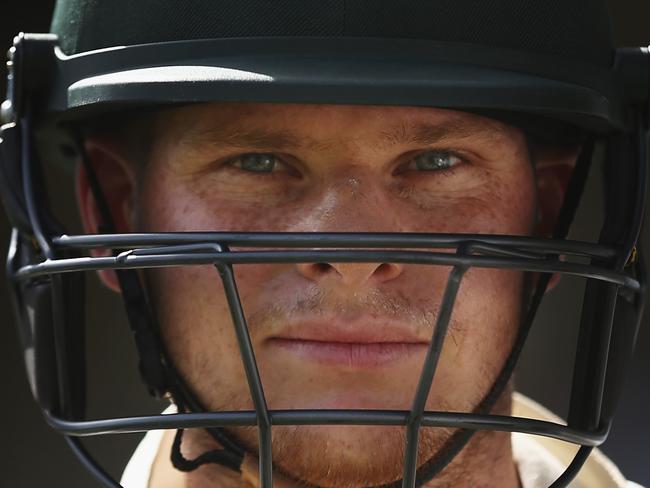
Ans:
{"label": "man's shadowed reddish ear on the left, crossed by helmet strap", "polygon": [[[88,160],[102,189],[108,211],[117,233],[131,232],[134,225],[134,197],[136,177],[123,144],[109,137],[92,137],[85,142]],[[84,165],[77,164],[77,202],[84,230],[88,234],[100,234],[106,223],[97,206]],[[109,256],[108,250],[93,250],[93,256]],[[120,287],[114,271],[98,271],[101,281],[119,292]]]}

